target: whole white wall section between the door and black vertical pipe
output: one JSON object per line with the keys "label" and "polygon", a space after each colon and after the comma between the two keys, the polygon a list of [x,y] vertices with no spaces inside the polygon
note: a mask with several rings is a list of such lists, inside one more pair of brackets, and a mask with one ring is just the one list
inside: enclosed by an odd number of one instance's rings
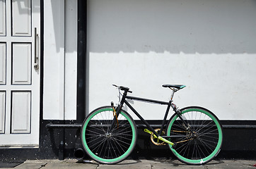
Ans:
{"label": "whole white wall section between the door and black vertical pipe", "polygon": [[44,120],[76,120],[76,3],[44,1]]}

